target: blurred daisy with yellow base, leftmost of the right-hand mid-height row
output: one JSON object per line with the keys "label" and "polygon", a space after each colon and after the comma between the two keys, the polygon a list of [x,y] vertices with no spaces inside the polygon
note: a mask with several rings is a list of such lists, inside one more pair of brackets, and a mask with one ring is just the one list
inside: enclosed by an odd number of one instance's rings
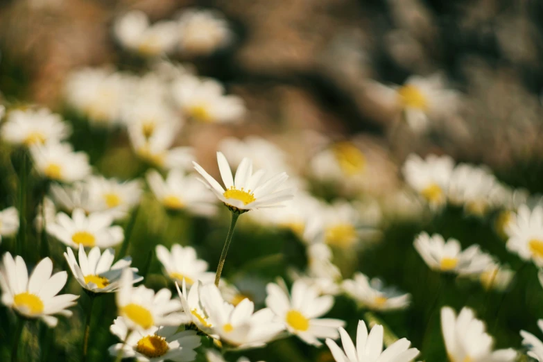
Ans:
{"label": "blurred daisy with yellow base, leftmost of the right-hand mid-height row", "polygon": [[417,191],[431,207],[440,207],[447,201],[447,189],[454,169],[449,156],[428,155],[423,160],[409,155],[402,169],[406,182]]}

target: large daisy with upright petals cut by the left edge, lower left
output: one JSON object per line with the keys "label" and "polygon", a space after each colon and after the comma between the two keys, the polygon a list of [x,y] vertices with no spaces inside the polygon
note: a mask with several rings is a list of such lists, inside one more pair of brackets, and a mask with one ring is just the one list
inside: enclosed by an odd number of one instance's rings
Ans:
{"label": "large daisy with upright petals cut by the left edge, lower left", "polygon": [[55,327],[58,319],[53,314],[71,316],[67,308],[76,304],[78,295],[58,292],[66,284],[68,274],[65,271],[53,272],[53,261],[42,259],[34,268],[30,277],[23,258],[15,260],[9,252],[3,255],[0,264],[0,287],[2,303],[25,318],[41,318],[49,327]]}

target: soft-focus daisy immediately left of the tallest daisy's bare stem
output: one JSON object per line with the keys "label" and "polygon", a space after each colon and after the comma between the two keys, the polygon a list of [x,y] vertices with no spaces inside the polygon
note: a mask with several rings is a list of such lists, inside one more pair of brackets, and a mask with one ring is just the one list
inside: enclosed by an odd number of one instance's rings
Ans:
{"label": "soft-focus daisy immediately left of the tallest daisy's bare stem", "polygon": [[171,252],[164,245],[157,245],[157,259],[162,263],[164,274],[174,282],[182,284],[183,279],[189,286],[197,280],[203,283],[213,282],[215,273],[207,271],[207,262],[198,259],[196,250],[191,246],[173,244]]}

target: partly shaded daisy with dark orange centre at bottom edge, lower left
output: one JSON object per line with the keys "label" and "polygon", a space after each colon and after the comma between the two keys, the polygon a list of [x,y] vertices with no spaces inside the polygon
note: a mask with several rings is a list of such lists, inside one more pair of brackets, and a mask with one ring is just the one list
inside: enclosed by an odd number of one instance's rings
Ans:
{"label": "partly shaded daisy with dark orange centre at bottom edge, lower left", "polygon": [[113,321],[110,331],[124,343],[112,345],[112,356],[122,350],[123,358],[133,358],[139,362],[194,361],[195,349],[200,347],[200,336],[196,331],[177,331],[177,326],[150,327],[146,331],[132,331],[125,318]]}

